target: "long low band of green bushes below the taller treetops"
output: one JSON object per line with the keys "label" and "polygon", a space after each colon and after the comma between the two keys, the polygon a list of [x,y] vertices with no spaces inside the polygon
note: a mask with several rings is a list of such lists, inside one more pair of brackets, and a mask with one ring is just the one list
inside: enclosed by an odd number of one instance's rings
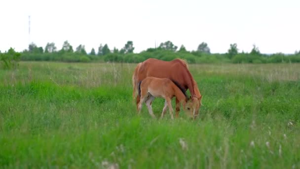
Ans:
{"label": "long low band of green bushes below the taller treetops", "polygon": [[284,55],[276,53],[270,56],[263,54],[238,53],[229,59],[226,54],[219,53],[201,53],[197,51],[172,51],[159,48],[149,48],[140,53],[110,53],[104,56],[87,55],[76,52],[58,51],[52,53],[31,53],[24,51],[21,60],[34,61],[64,61],[64,62],[127,62],[138,63],[149,58],[155,58],[165,61],[171,61],[176,58],[186,59],[188,63],[300,63],[300,54]]}

